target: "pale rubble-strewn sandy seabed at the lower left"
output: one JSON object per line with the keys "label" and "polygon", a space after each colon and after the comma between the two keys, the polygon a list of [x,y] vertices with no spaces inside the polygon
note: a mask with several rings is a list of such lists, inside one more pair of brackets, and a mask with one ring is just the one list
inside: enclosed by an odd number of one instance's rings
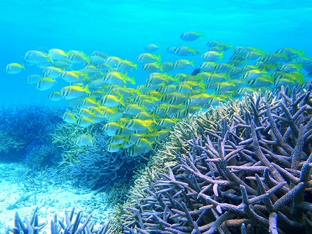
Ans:
{"label": "pale rubble-strewn sandy seabed at the lower left", "polygon": [[[28,169],[29,170],[29,169]],[[39,223],[47,222],[43,234],[50,234],[50,220],[57,214],[64,217],[75,207],[75,214],[82,211],[83,216],[92,213],[95,225],[103,224],[112,214],[113,208],[106,203],[105,193],[96,194],[88,189],[77,188],[73,181],[54,180],[51,173],[27,177],[25,165],[20,163],[0,163],[0,234],[8,227],[14,227],[16,212],[21,219],[31,218],[36,207],[39,208]]]}

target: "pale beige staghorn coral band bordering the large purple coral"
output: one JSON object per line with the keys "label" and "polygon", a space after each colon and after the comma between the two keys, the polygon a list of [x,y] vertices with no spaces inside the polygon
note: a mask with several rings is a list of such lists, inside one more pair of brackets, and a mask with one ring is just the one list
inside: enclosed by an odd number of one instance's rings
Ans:
{"label": "pale beige staghorn coral band bordering the large purple coral", "polygon": [[[254,93],[254,97],[256,94]],[[272,93],[265,93],[264,98],[267,102],[275,102],[275,97]],[[242,115],[242,109],[250,108],[249,98],[243,98],[242,100],[229,100],[227,103],[221,103],[219,106],[210,107],[205,112],[200,112],[196,115],[189,115],[184,121],[178,122],[174,127],[169,137],[167,137],[159,146],[154,150],[154,154],[151,156],[147,166],[138,171],[134,176],[134,186],[132,186],[127,195],[127,200],[123,205],[116,207],[116,219],[122,220],[122,223],[128,223],[121,216],[129,214],[129,210],[125,207],[135,206],[137,203],[137,197],[144,198],[149,194],[146,192],[146,188],[149,186],[151,180],[159,178],[158,173],[168,173],[168,167],[176,166],[178,162],[177,155],[187,155],[191,150],[191,146],[186,142],[185,138],[190,138],[193,134],[199,136],[202,129],[217,129],[216,122],[220,118],[233,119],[233,115]],[[194,124],[196,122],[196,124]],[[120,218],[121,217],[121,218]],[[120,222],[120,221],[119,221]],[[116,228],[116,233],[121,232],[120,227]]]}

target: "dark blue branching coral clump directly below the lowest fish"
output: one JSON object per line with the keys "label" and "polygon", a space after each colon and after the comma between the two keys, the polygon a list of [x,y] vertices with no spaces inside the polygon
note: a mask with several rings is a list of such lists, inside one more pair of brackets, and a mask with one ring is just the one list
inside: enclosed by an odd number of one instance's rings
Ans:
{"label": "dark blue branching coral clump directly below the lowest fish", "polygon": [[120,180],[129,182],[137,167],[146,162],[144,156],[134,158],[123,150],[107,152],[107,138],[99,134],[93,145],[78,154],[79,161],[69,166],[69,175],[75,176],[80,186],[98,189]]}

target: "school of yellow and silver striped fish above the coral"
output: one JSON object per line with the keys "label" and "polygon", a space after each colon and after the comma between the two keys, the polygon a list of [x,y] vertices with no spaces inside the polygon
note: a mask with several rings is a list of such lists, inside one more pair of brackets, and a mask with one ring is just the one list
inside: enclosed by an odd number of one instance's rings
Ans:
{"label": "school of yellow and silver striped fish above the coral", "polygon": [[[197,32],[184,32],[180,39],[193,41],[201,37]],[[103,132],[109,136],[107,151],[126,149],[131,156],[149,152],[189,113],[240,98],[245,92],[305,85],[312,77],[312,58],[305,57],[302,50],[280,48],[267,53],[216,40],[208,41],[207,46],[204,53],[189,46],[167,48],[168,53],[179,57],[201,57],[202,63],[192,75],[172,75],[173,71],[195,67],[194,60],[162,61],[160,55],[153,54],[159,49],[156,44],[146,45],[145,52],[137,55],[137,62],[100,51],[87,55],[77,50],[29,50],[22,56],[24,63],[10,63],[5,71],[19,74],[25,65],[37,66],[41,74],[28,76],[26,82],[41,91],[63,79],[67,85],[51,92],[49,98],[79,103],[78,113],[63,113],[64,121],[80,127],[102,123]],[[226,53],[232,54],[224,62]],[[128,76],[129,71],[137,69],[137,63],[148,74],[144,85],[135,86],[135,78]],[[73,70],[75,64],[82,68]],[[92,144],[92,138],[81,135],[76,144]]]}

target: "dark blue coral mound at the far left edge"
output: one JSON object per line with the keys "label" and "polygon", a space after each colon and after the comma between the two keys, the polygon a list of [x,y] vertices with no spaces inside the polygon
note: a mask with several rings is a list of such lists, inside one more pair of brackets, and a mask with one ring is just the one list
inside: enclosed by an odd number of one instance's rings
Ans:
{"label": "dark blue coral mound at the far left edge", "polygon": [[[2,159],[20,161],[34,147],[46,144],[61,109],[19,106],[0,110],[0,152]],[[18,154],[17,154],[18,153]]]}

